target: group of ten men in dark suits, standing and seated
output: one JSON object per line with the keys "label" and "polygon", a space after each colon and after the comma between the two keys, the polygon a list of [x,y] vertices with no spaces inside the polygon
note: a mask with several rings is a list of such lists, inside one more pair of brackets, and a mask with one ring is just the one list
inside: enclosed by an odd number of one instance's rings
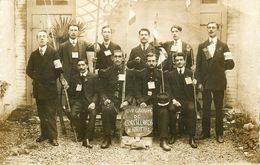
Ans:
{"label": "group of ten men in dark suits, standing and seated", "polygon": [[[197,148],[196,90],[202,92],[202,134],[210,137],[210,112],[212,96],[216,108],[216,140],[223,143],[223,97],[226,88],[225,71],[234,67],[228,46],[217,38],[219,25],[209,22],[209,39],[199,45],[196,66],[189,44],[180,39],[182,28],[172,26],[172,41],[149,43],[150,31],[139,30],[140,44],[131,50],[126,61],[121,47],[112,42],[110,26],[102,28],[103,43],[88,43],[78,38],[79,27],[68,27],[69,40],[56,52],[48,42],[48,34],[37,34],[39,48],[29,59],[27,75],[33,79],[33,93],[40,117],[41,135],[37,142],[49,139],[57,146],[56,79],[68,91],[71,117],[78,140],[87,148],[93,146],[95,120],[101,111],[104,140],[101,148],[111,145],[116,127],[116,116],[130,104],[153,107],[153,130],[158,133],[160,147],[170,151],[169,144],[177,138],[177,114],[181,113],[182,127],[189,136],[189,144]],[[90,73],[86,51],[96,51],[94,59],[98,74]],[[160,55],[167,59],[158,63]],[[60,76],[60,75],[63,76]],[[194,93],[195,91],[195,93]],[[180,119],[179,119],[180,120]]]}

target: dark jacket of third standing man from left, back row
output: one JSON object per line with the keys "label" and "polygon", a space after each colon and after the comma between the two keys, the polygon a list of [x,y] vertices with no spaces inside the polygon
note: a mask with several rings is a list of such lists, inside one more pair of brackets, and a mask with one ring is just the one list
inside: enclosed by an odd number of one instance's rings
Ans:
{"label": "dark jacket of third standing man from left, back row", "polygon": [[[112,56],[114,55],[114,50],[121,50],[121,47],[116,43],[110,41],[108,48],[105,47],[104,43],[99,44],[100,51],[97,53],[97,65],[96,69],[106,69],[113,65]],[[110,50],[111,55],[105,55],[105,51]]]}

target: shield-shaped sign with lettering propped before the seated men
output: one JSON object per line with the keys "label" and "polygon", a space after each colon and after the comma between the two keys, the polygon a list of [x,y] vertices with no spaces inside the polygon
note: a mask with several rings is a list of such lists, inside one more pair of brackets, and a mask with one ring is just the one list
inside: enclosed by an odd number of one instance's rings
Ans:
{"label": "shield-shaped sign with lettering propped before the seated men", "polygon": [[124,128],[127,135],[132,137],[149,135],[153,130],[152,106],[127,106],[124,111]]}

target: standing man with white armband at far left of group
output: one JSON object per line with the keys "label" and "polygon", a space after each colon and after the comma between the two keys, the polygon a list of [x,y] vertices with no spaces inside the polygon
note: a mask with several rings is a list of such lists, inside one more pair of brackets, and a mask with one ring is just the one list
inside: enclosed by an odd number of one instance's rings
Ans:
{"label": "standing man with white armband at far left of group", "polygon": [[26,74],[33,80],[33,96],[36,99],[37,111],[40,118],[41,135],[36,142],[49,139],[50,144],[58,146],[56,125],[57,85],[61,63],[55,55],[56,51],[47,45],[47,31],[41,30],[37,34],[39,48],[32,52]]}

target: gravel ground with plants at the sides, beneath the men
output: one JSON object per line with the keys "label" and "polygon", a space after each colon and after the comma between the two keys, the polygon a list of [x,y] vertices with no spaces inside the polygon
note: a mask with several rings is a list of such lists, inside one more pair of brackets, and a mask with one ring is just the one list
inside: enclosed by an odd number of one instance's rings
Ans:
{"label": "gravel ground with plants at the sides, beneath the men", "polygon": [[[100,130],[92,142],[93,149],[87,149],[76,143],[68,121],[65,121],[67,135],[59,133],[59,146],[53,147],[47,141],[36,143],[39,135],[38,119],[34,116],[33,108],[16,113],[9,120],[0,123],[0,164],[88,164],[88,165],[160,165],[160,164],[250,164],[260,163],[257,149],[250,143],[241,127],[243,124],[234,122],[234,115],[225,122],[225,142],[219,144],[212,137],[198,141],[198,148],[192,149],[188,138],[179,138],[165,152],[159,147],[158,139],[153,140],[153,146],[147,150],[131,150],[121,148],[118,137],[108,149],[100,149],[102,141]],[[21,112],[21,111],[18,111]],[[19,116],[19,117],[18,117]],[[21,117],[23,116],[23,117]],[[18,117],[18,118],[17,118]],[[10,121],[11,120],[11,121]],[[229,122],[231,120],[231,122]],[[241,120],[237,117],[237,121]],[[198,120],[198,125],[201,121]],[[233,123],[233,124],[230,124]],[[58,124],[59,126],[59,124]],[[238,127],[241,127],[238,128]],[[199,129],[199,128],[198,128]],[[60,130],[60,129],[59,129]],[[251,130],[252,131],[252,130]],[[244,135],[243,137],[240,137]],[[244,138],[244,141],[242,141]]]}

